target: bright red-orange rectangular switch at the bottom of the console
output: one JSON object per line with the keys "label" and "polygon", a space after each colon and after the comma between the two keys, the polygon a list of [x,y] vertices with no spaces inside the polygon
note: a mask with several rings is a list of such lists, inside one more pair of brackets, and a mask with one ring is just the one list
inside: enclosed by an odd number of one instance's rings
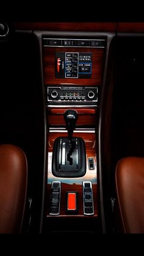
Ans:
{"label": "bright red-orange rectangular switch at the bottom of the console", "polygon": [[77,211],[77,193],[76,192],[68,192],[67,193],[67,211],[74,212]]}

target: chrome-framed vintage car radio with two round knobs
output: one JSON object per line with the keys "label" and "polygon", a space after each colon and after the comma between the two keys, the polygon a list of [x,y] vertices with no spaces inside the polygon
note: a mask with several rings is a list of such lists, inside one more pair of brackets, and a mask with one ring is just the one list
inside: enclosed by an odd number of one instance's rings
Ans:
{"label": "chrome-framed vintage car radio with two round knobs", "polygon": [[98,102],[98,87],[90,86],[49,86],[47,87],[48,104],[76,104],[95,105]]}

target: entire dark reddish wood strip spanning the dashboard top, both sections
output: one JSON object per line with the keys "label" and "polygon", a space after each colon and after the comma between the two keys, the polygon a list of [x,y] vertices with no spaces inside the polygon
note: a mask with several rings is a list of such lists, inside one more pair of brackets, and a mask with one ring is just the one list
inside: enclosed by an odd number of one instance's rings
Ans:
{"label": "entire dark reddish wood strip spanning the dashboard top, both sections", "polygon": [[23,22],[13,23],[15,29],[40,31],[144,32],[144,22]]}

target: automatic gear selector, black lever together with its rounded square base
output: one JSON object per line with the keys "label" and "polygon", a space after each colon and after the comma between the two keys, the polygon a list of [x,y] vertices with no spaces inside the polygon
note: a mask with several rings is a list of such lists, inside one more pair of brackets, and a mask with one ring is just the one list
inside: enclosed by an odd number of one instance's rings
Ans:
{"label": "automatic gear selector, black lever together with its rounded square base", "polygon": [[77,122],[77,111],[66,110],[63,114],[68,130],[68,137],[59,137],[54,142],[52,153],[52,173],[57,177],[81,177],[86,171],[85,142],[73,137]]}

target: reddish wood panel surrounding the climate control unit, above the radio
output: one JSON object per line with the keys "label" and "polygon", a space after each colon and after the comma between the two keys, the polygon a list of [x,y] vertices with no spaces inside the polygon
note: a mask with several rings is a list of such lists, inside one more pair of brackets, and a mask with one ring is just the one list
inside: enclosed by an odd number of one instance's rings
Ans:
{"label": "reddish wood panel surrounding the climate control unit, above the radio", "polygon": [[[90,52],[92,53],[92,78],[56,78],[56,52]],[[43,75],[45,85],[101,85],[103,83],[104,48],[60,48],[43,47]]]}

